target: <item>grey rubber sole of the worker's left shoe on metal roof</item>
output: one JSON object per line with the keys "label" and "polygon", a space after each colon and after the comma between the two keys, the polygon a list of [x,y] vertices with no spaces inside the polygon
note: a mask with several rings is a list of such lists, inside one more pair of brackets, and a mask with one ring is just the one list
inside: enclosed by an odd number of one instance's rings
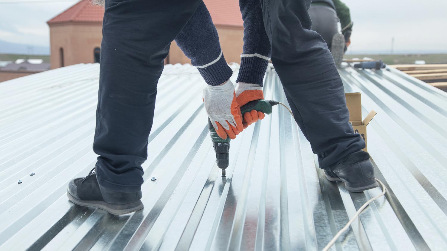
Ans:
{"label": "grey rubber sole of the worker's left shoe on metal roof", "polygon": [[136,202],[132,202],[129,204],[124,204],[124,205],[115,205],[115,204],[110,204],[110,203],[102,202],[102,201],[81,201],[81,200],[74,198],[70,193],[68,193],[68,191],[67,191],[67,196],[68,196],[68,199],[71,202],[75,203],[76,205],[93,206],[93,207],[101,208],[103,210],[106,210],[110,214],[116,214],[116,215],[129,214],[129,213],[143,209],[143,202],[141,202],[141,200],[138,200]]}

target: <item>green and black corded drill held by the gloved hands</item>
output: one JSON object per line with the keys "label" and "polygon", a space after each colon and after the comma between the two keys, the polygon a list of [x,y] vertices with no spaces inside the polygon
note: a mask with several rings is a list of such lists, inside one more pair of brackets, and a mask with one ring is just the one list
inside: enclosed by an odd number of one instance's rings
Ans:
{"label": "green and black corded drill held by the gloved hands", "polygon": [[[250,112],[252,110],[261,111],[265,114],[271,114],[272,107],[277,104],[279,104],[278,101],[258,99],[246,103],[245,105],[240,107],[240,111],[242,115],[244,115],[245,112]],[[214,129],[210,118],[208,118],[208,130],[210,130],[211,141],[213,142],[214,151],[216,152],[217,167],[222,169],[222,177],[226,177],[227,175],[225,173],[225,169],[230,164],[230,155],[228,154],[228,152],[230,151],[231,140],[229,137],[223,140],[217,135],[217,132]]]}

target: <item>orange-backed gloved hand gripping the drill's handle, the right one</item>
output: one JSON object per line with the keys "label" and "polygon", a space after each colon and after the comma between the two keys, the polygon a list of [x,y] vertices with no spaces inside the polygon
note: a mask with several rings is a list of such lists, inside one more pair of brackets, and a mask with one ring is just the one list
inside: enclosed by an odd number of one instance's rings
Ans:
{"label": "orange-backed gloved hand gripping the drill's handle, the right one", "polygon": [[[239,82],[239,85],[236,89],[236,101],[240,107],[242,107],[246,103],[249,103],[250,101],[258,99],[264,99],[264,93],[262,92],[261,86],[257,84]],[[242,121],[242,124],[244,129],[252,123],[257,122],[258,119],[264,119],[265,117],[263,112],[256,110],[245,112],[243,116],[244,119]]]}

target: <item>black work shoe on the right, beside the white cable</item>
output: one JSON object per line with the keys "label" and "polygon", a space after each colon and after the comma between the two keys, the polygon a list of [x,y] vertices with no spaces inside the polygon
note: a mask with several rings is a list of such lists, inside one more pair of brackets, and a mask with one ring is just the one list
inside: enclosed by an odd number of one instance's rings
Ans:
{"label": "black work shoe on the right, beside the white cable", "polygon": [[325,174],[329,181],[343,181],[350,192],[362,192],[379,185],[369,153],[363,151],[346,156],[332,171],[325,170]]}

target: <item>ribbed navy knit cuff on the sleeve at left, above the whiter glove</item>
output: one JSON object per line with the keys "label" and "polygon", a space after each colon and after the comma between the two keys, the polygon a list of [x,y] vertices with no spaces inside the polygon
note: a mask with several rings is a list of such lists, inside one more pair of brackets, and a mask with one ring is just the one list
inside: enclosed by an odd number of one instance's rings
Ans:
{"label": "ribbed navy knit cuff on the sleeve at left, above the whiter glove", "polygon": [[210,86],[218,86],[230,79],[231,75],[233,74],[233,71],[231,70],[230,66],[228,66],[227,62],[225,61],[225,58],[223,57],[223,53],[221,54],[221,57],[219,60],[217,60],[215,63],[212,63],[209,66],[202,67],[202,66],[196,66],[198,72],[202,75],[203,79],[205,79],[205,82],[207,82]]}

